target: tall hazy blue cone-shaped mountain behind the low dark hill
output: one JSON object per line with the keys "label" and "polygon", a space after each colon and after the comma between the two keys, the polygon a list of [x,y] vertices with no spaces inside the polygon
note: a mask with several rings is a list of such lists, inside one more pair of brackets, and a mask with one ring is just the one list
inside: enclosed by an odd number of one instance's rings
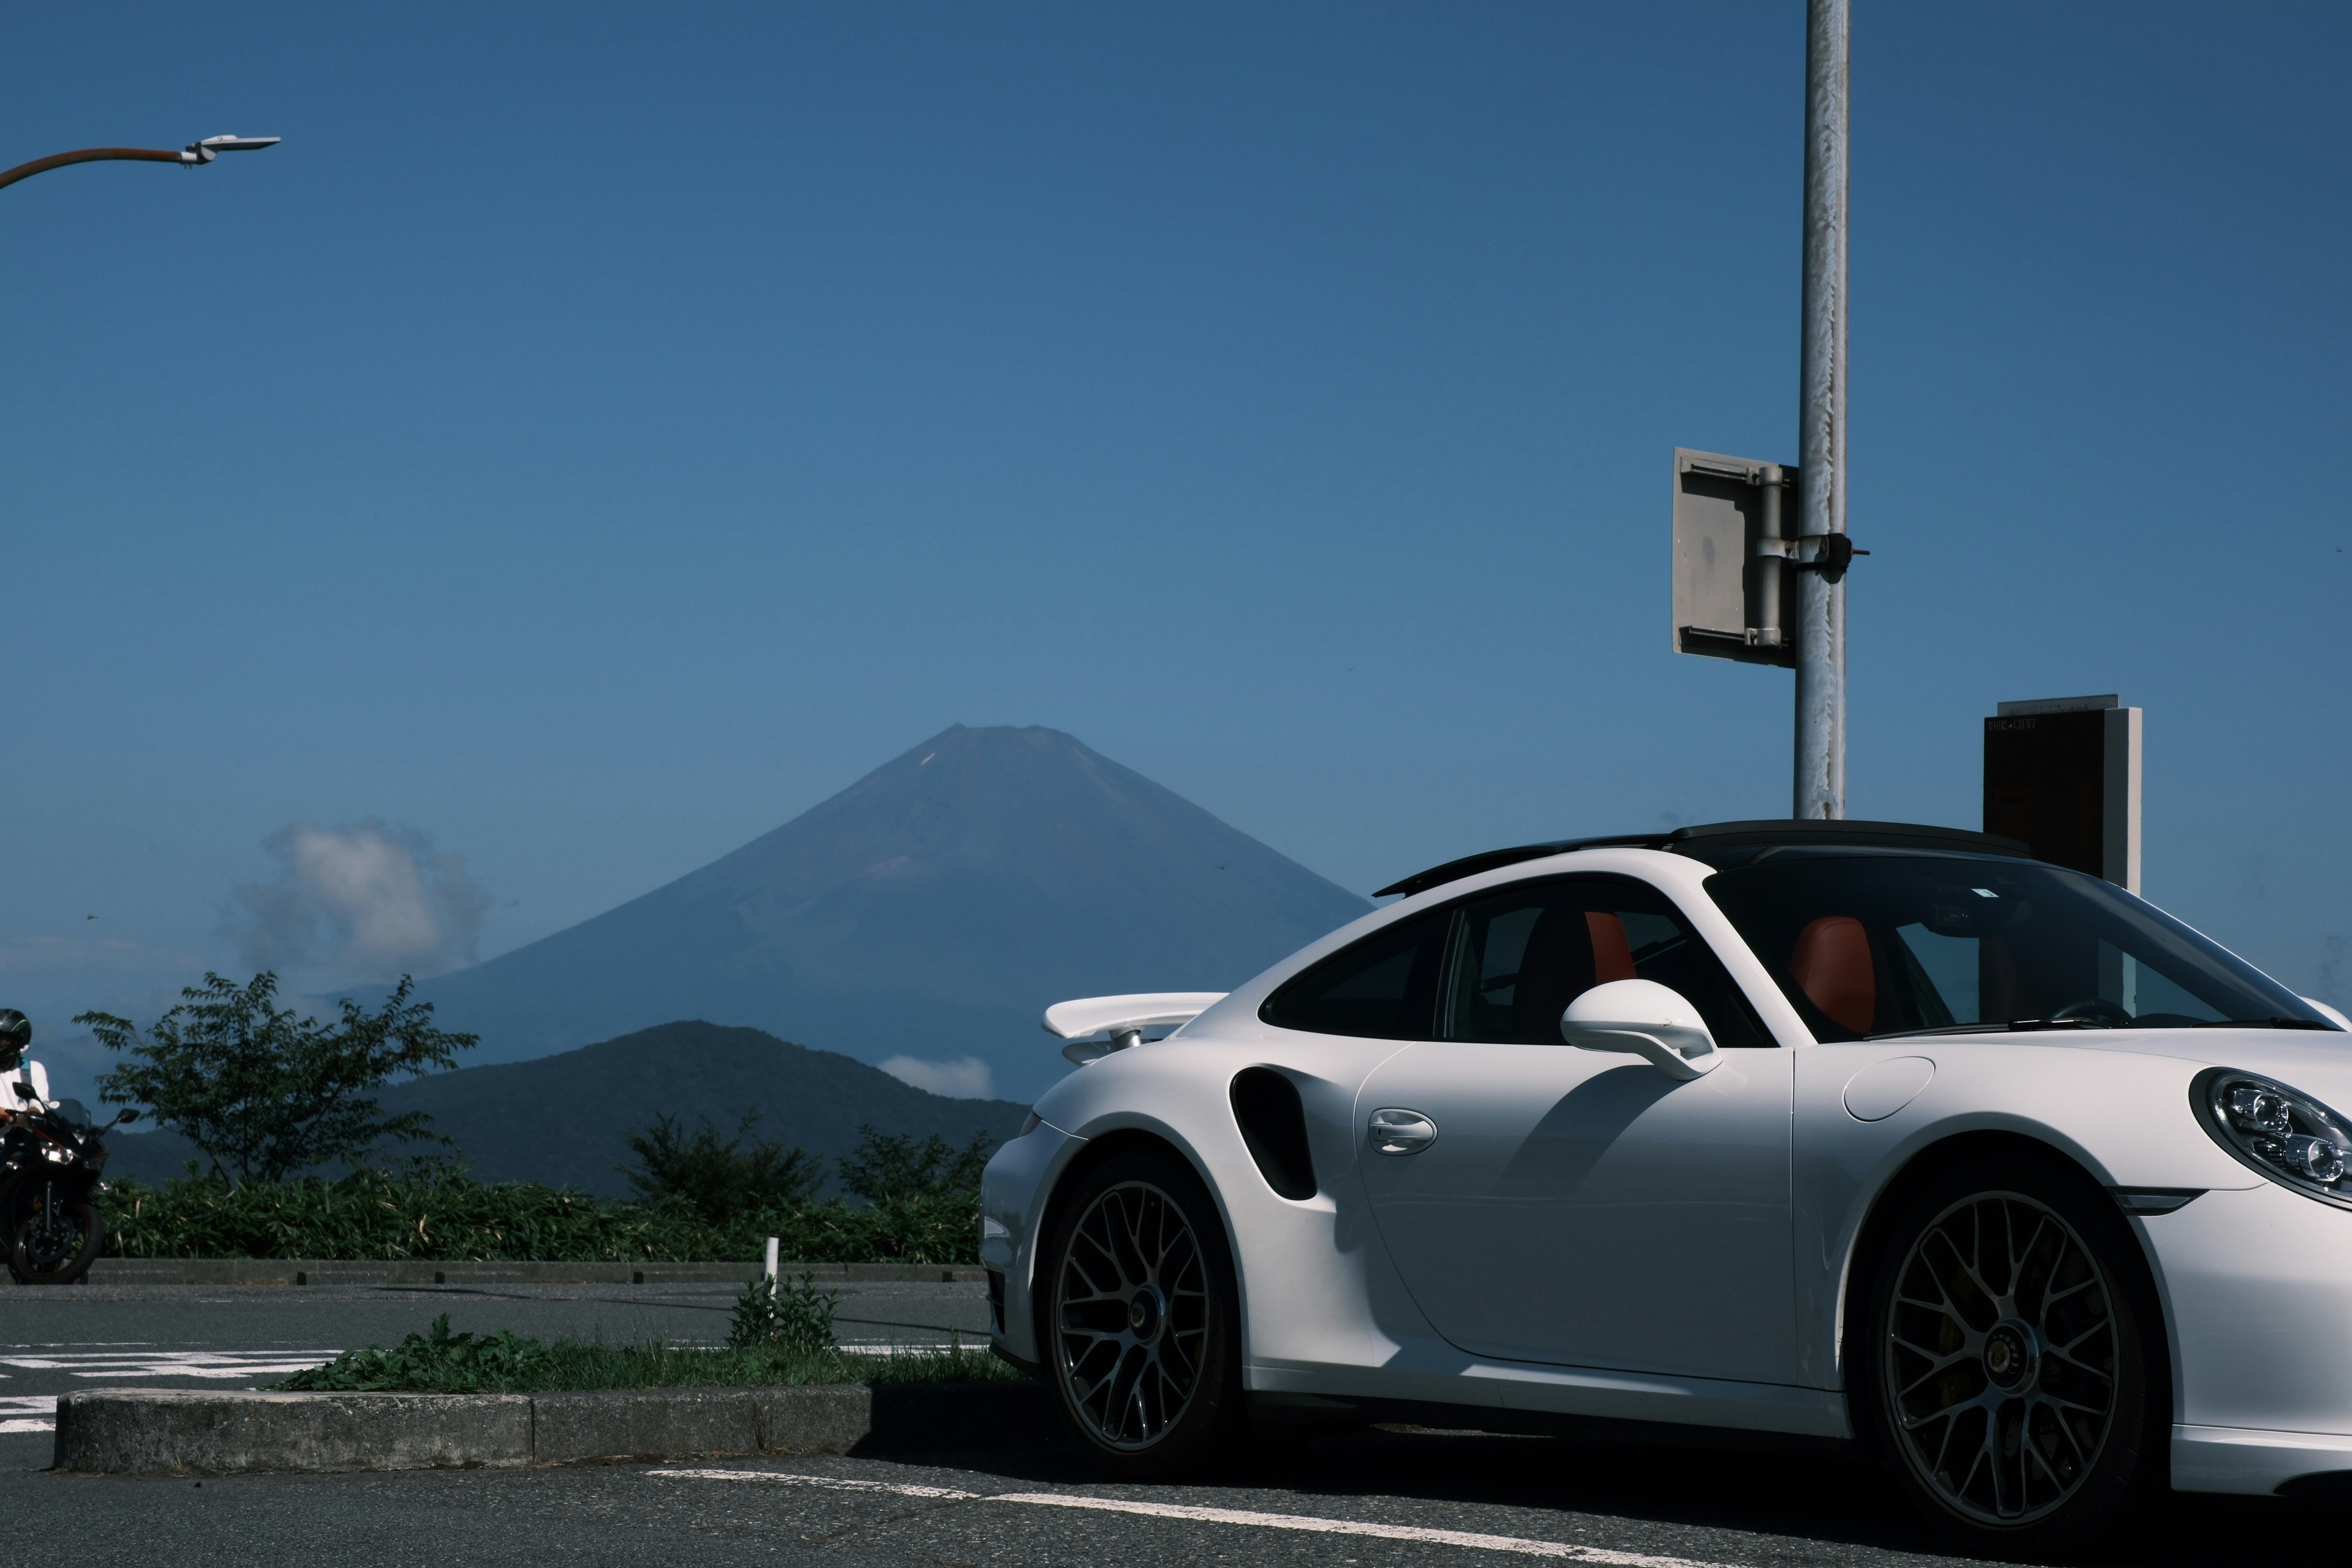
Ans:
{"label": "tall hazy blue cone-shaped mountain behind the low dark hill", "polygon": [[663,1018],[1033,1095],[1065,997],[1230,990],[1371,905],[1054,729],[957,724],[677,882],[421,985],[503,1063]]}

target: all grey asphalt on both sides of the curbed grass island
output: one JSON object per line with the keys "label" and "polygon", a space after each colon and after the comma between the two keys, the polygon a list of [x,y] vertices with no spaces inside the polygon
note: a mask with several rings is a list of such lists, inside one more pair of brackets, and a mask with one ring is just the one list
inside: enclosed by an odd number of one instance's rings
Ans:
{"label": "all grey asphalt on both sides of the curbed grass island", "polygon": [[[449,1312],[461,1328],[717,1338],[729,1288],[0,1293],[7,1396],[249,1387]],[[844,1328],[976,1321],[971,1286],[854,1286]],[[856,1319],[856,1321],[851,1321]],[[111,1356],[111,1361],[101,1361]],[[183,1356],[174,1361],[174,1356]],[[134,1366],[136,1359],[136,1366]],[[207,1361],[209,1359],[209,1361]],[[176,1375],[169,1368],[183,1368]],[[1115,1486],[1063,1450],[717,1460],[529,1472],[45,1474],[49,1434],[0,1429],[0,1563],[1303,1563],[1595,1561],[1621,1568],[1896,1566],[1938,1556],[1870,1469],[1773,1453],[1362,1432],[1192,1486]],[[38,1530],[24,1521],[40,1521]],[[2178,1500],[2112,1563],[2343,1561],[2338,1509]]]}

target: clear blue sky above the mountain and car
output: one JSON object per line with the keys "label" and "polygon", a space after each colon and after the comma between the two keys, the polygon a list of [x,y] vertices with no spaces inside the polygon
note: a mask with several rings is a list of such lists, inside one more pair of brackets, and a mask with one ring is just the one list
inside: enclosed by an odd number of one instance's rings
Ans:
{"label": "clear blue sky above the mountain and car", "polygon": [[[2150,896],[2345,999],[2352,12],[1858,12],[1851,811],[1973,825],[1997,701],[2122,691]],[[1795,456],[1802,45],[21,12],[0,162],[287,141],[0,193],[0,985],[233,966],[301,823],[430,839],[487,957],[953,722],[1359,891],[1785,813],[1665,541],[1672,447]]]}

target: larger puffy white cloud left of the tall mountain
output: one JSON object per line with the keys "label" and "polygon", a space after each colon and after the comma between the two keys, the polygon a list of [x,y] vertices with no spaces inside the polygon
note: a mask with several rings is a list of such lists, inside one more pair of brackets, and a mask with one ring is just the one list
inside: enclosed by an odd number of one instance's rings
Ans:
{"label": "larger puffy white cloud left of the tall mountain", "polygon": [[303,964],[388,980],[473,964],[489,896],[430,837],[374,818],[294,823],[263,849],[278,856],[278,879],[240,886],[226,910],[254,969]]}

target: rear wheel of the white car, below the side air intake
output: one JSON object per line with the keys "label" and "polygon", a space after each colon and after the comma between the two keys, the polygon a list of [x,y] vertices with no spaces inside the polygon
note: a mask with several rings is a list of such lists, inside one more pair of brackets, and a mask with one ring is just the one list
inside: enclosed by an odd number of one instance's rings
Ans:
{"label": "rear wheel of the white car, below the side air intake", "polygon": [[1242,1425],[1240,1298],[1209,1190],[1171,1152],[1129,1150],[1056,1204],[1037,1293],[1054,1406],[1105,1474],[1202,1469]]}

